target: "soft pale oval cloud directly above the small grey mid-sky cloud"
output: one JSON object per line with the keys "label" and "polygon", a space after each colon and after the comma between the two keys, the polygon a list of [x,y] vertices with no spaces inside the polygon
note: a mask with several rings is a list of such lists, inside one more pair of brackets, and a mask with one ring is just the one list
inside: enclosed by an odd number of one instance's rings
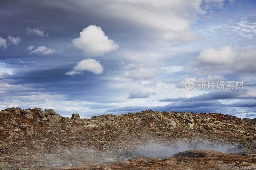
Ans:
{"label": "soft pale oval cloud directly above the small grey mid-sky cloud", "polygon": [[130,78],[134,80],[150,79],[156,76],[157,76],[156,72],[153,72],[144,68],[140,68],[138,70],[128,70],[128,71],[125,71],[123,74],[124,78]]}

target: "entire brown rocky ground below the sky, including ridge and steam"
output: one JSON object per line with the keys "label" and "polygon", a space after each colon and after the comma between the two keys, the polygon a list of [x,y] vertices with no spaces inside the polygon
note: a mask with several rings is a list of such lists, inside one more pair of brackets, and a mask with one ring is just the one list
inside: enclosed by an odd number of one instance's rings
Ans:
{"label": "entire brown rocky ground below the sky, including ridge and steam", "polygon": [[0,111],[0,169],[256,169],[256,124],[219,113]]}

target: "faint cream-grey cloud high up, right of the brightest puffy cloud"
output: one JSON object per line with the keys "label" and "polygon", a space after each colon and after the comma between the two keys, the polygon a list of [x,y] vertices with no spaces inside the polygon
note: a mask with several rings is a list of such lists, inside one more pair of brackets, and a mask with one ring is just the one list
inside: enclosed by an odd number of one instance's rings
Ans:
{"label": "faint cream-grey cloud high up, right of the brightest puffy cloud", "polygon": [[199,40],[200,37],[190,30],[187,30],[184,32],[178,32],[178,33],[174,31],[168,31],[163,35],[163,39],[165,41],[170,41],[172,43],[179,44],[179,43],[196,41],[196,40]]}

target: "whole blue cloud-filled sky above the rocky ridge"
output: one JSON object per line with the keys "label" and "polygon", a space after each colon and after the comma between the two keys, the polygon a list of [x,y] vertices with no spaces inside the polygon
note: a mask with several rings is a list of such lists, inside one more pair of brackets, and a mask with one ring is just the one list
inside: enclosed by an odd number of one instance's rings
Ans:
{"label": "whole blue cloud-filled sky above the rocky ridge", "polygon": [[255,63],[254,0],[0,2],[0,110],[255,118]]}

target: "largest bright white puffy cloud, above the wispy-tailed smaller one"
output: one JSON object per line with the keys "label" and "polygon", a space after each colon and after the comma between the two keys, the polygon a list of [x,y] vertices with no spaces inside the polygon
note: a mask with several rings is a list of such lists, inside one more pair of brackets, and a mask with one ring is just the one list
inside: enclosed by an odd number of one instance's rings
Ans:
{"label": "largest bright white puffy cloud, above the wispy-tailed smaller one", "polygon": [[94,25],[84,28],[80,32],[80,37],[75,38],[72,42],[76,48],[89,55],[103,55],[118,48],[113,40],[108,39],[101,27]]}

